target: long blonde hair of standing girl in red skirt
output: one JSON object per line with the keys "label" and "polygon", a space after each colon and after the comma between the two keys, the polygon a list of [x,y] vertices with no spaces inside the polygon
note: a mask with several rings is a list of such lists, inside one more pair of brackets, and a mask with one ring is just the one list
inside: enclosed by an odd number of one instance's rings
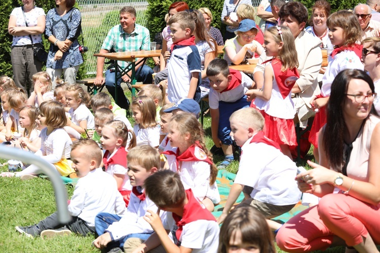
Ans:
{"label": "long blonde hair of standing girl in red skirt", "polygon": [[[285,71],[287,68],[297,68],[297,51],[295,49],[294,37],[290,29],[286,26],[272,26],[269,27],[266,32],[272,34],[272,37],[277,44],[280,44],[280,42],[282,42],[282,48],[278,52],[278,58],[282,62],[281,70]],[[279,32],[281,34],[279,34]]]}

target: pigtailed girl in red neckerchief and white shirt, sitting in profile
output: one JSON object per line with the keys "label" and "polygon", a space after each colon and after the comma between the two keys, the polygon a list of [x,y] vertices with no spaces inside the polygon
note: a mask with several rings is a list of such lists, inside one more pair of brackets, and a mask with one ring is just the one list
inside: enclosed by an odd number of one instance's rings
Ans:
{"label": "pigtailed girl in red neckerchief and white shirt, sitting in profile", "polygon": [[[119,120],[108,121],[102,127],[102,136],[100,138],[101,146],[105,150],[103,155],[103,164],[105,172],[116,179],[118,190],[122,194],[126,206],[128,206],[132,186],[127,175],[127,154],[126,144],[129,132],[124,122]],[[132,133],[130,147],[136,146],[134,134]]]}

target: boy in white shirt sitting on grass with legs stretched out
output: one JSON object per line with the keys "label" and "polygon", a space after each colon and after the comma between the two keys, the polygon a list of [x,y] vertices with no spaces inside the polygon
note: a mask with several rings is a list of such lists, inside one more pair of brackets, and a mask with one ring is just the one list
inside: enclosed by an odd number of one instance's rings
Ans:
{"label": "boy in white shirt sitting on grass with legs stretched out", "polygon": [[125,203],[116,180],[99,168],[102,154],[94,140],[81,139],[71,146],[72,168],[79,177],[68,205],[72,220],[67,224],[58,221],[54,212],[45,220],[16,230],[28,237],[51,237],[71,232],[86,236],[95,233],[95,216],[99,212],[123,214]]}

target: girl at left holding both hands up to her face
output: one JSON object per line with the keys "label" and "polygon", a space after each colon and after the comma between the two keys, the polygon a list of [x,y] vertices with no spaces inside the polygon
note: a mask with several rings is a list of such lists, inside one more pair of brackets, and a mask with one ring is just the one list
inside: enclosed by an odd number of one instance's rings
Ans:
{"label": "girl at left holding both hands up to her face", "polygon": [[28,105],[39,107],[41,103],[49,100],[54,100],[52,91],[52,79],[46,71],[41,71],[33,75],[34,91],[30,93]]}

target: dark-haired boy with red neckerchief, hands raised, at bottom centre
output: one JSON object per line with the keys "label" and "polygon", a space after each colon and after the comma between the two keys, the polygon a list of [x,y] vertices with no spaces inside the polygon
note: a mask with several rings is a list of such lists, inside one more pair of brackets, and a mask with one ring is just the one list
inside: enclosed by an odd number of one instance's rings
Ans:
{"label": "dark-haired boy with red neckerchief, hands raised, at bottom centre", "polygon": [[[146,240],[131,238],[125,252],[216,252],[219,227],[214,216],[184,190],[179,175],[170,170],[159,171],[145,180],[147,196],[166,211],[161,221],[158,212],[148,210],[144,216],[155,232]],[[169,236],[168,236],[169,234]]]}

